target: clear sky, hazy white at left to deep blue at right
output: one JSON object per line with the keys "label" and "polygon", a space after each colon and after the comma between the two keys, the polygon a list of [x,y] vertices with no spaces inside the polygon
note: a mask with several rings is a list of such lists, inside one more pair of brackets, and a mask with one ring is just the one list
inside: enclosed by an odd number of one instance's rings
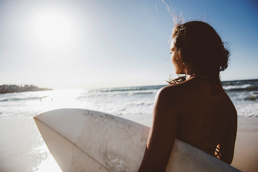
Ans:
{"label": "clear sky, hazy white at left to deep blue at right", "polygon": [[[221,80],[258,78],[257,1],[166,1],[228,42]],[[0,85],[53,89],[163,85],[173,17],[162,1],[0,1]]]}

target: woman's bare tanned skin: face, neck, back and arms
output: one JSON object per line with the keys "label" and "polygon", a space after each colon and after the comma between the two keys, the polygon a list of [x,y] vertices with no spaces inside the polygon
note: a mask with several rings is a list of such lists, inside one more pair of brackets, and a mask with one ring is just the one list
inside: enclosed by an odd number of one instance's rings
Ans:
{"label": "woman's bare tanned skin: face, neck, back and arms", "polygon": [[231,99],[221,87],[215,95],[214,84],[193,76],[173,53],[172,62],[176,74],[186,74],[189,79],[157,92],[139,171],[165,171],[175,138],[211,155],[218,146],[221,160],[231,164],[237,133],[237,112]]}

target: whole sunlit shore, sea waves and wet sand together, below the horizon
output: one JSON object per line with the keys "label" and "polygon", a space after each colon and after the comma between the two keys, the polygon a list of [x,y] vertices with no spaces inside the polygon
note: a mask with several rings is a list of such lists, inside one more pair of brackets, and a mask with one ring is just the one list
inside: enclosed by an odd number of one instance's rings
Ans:
{"label": "whole sunlit shore, sea waves and wet sand together, below the horizon", "polygon": [[[258,171],[258,101],[255,81],[224,83],[238,113],[232,166]],[[61,171],[33,117],[60,108],[106,112],[150,126],[153,101],[163,86],[72,89],[0,94],[0,171]]]}

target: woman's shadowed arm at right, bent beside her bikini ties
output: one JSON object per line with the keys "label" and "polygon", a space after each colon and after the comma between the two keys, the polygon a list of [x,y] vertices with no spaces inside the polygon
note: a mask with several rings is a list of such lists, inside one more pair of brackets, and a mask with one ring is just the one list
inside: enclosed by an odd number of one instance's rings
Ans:
{"label": "woman's shadowed arm at right, bent beside her bikini ties", "polygon": [[234,157],[235,142],[237,136],[237,114],[234,115],[233,121],[228,130],[222,137],[218,148],[220,149],[220,160],[231,164]]}

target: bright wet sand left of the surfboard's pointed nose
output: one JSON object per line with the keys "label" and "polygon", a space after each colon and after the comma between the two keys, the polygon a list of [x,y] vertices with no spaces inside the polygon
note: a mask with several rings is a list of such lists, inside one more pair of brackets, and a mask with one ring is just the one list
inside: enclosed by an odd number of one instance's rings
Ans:
{"label": "bright wet sand left of the surfboard's pointed nose", "polygon": [[0,171],[61,171],[33,118],[0,117]]}

